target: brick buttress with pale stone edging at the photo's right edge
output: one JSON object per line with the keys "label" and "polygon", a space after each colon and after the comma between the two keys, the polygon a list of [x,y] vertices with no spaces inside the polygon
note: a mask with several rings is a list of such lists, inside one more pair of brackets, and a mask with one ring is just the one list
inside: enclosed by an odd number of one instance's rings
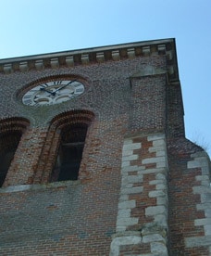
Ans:
{"label": "brick buttress with pale stone edging at the photo's right edge", "polygon": [[205,229],[209,232],[209,226],[205,225],[209,199],[204,196],[211,189],[209,159],[184,138],[170,141],[169,146],[170,251],[173,255],[209,255],[209,235],[205,233]]}

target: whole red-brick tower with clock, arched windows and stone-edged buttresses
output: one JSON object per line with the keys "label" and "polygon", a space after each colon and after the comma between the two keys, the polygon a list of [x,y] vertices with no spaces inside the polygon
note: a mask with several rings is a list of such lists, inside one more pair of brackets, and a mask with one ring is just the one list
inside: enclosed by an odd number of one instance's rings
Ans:
{"label": "whole red-brick tower with clock, arched windows and stone-edged buttresses", "polygon": [[0,60],[1,255],[210,255],[210,161],[174,39]]}

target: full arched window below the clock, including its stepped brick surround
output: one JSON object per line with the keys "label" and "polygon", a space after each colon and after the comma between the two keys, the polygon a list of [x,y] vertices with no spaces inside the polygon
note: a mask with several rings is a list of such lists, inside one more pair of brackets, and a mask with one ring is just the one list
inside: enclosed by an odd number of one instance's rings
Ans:
{"label": "full arched window below the clock, including its stepped brick surround", "polygon": [[93,119],[92,111],[77,109],[61,113],[52,120],[33,183],[78,179]]}

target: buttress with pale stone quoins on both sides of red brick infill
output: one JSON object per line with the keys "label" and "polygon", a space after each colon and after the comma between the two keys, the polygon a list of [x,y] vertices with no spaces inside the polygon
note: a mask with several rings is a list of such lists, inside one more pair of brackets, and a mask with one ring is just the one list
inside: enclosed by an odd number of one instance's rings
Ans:
{"label": "buttress with pale stone quoins on both sides of red brick infill", "polygon": [[[132,255],[168,255],[167,170],[164,134],[125,139],[117,233],[110,256],[121,255],[125,247]],[[137,254],[134,245],[140,250]]]}

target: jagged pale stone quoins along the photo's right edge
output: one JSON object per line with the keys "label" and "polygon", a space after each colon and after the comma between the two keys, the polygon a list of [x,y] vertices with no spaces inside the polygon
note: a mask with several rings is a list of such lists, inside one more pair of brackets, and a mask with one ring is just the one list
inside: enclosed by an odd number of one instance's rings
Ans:
{"label": "jagged pale stone quoins along the photo's right edge", "polygon": [[200,196],[201,203],[196,205],[197,211],[204,211],[205,218],[195,219],[194,225],[204,226],[205,236],[187,237],[185,245],[192,247],[209,247],[211,254],[211,187],[210,187],[210,160],[205,152],[192,154],[192,160],[188,161],[188,169],[200,168],[201,175],[195,176],[195,180],[200,182],[200,186],[192,186],[193,194]]}

